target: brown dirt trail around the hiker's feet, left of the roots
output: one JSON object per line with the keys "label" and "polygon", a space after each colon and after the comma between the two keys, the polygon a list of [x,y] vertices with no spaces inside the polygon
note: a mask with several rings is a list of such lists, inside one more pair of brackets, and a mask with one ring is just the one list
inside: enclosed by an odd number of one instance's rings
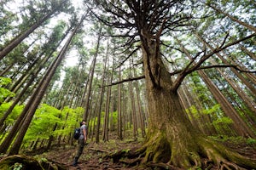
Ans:
{"label": "brown dirt trail around the hiker's feet, left of the roots", "polygon": [[[139,146],[140,143],[138,142],[87,144],[84,146],[84,153],[80,156],[77,167],[72,166],[73,156],[76,151],[74,146],[67,149],[59,148],[51,150],[41,156],[47,158],[49,161],[61,163],[69,170],[128,170],[135,168],[127,167],[125,164],[120,162],[113,162],[111,159],[102,159],[102,157],[119,150],[132,149]],[[139,168],[137,167],[136,169]]]}

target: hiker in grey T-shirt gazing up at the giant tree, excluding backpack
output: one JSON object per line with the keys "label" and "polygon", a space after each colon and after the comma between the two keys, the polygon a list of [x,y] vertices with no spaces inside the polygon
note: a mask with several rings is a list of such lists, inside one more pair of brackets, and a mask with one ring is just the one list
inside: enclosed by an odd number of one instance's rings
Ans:
{"label": "hiker in grey T-shirt gazing up at the giant tree, excluding backpack", "polygon": [[78,165],[78,160],[79,160],[79,157],[82,155],[86,140],[87,140],[87,126],[86,126],[86,122],[83,120],[82,122],[80,122],[79,146],[78,146],[76,156],[73,159],[73,167],[76,167]]}

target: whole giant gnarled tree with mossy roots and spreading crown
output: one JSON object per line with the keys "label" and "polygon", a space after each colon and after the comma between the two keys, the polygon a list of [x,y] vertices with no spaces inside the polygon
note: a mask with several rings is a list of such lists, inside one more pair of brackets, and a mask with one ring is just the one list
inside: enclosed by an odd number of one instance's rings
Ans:
{"label": "whole giant gnarled tree with mossy roots and spreading crown", "polygon": [[166,56],[161,53],[164,41],[160,37],[170,37],[178,31],[188,32],[198,26],[198,20],[206,20],[202,13],[206,8],[204,3],[189,0],[101,0],[94,1],[94,5],[96,9],[91,11],[98,20],[118,28],[119,37],[129,38],[125,44],[127,48],[140,42],[149,115],[147,139],[138,150],[143,154],[143,162],[161,161],[183,168],[207,167],[201,161],[201,158],[207,158],[219,168],[255,168],[255,160],[224,148],[193,127],[177,95],[177,88],[191,72],[216,67],[204,66],[207,59],[255,37],[255,33],[247,31],[247,37],[233,41],[223,36],[223,42],[217,48],[205,48],[195,53],[181,70],[171,72],[166,65]]}

